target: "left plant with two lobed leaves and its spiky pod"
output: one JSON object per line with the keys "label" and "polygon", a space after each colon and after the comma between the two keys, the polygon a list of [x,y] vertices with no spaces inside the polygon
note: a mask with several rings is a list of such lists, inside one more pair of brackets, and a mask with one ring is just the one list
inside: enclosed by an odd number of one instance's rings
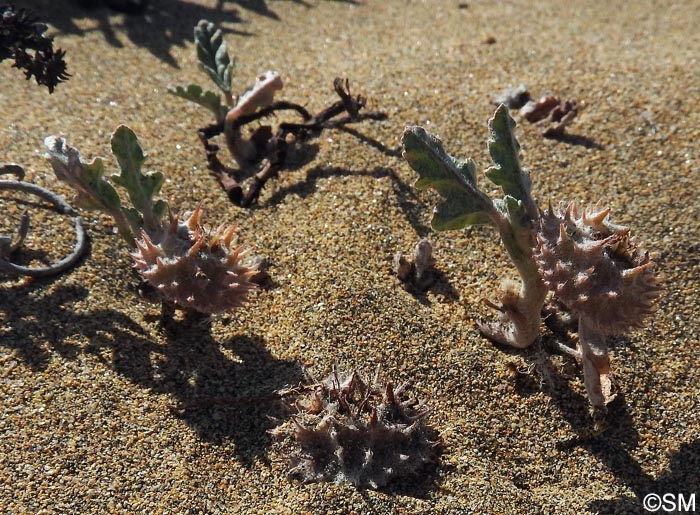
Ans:
{"label": "left plant with two lobed leaves and its spiky pod", "polygon": [[[129,245],[135,267],[165,303],[201,313],[241,306],[256,285],[258,273],[248,251],[237,243],[236,226],[207,230],[199,206],[188,217],[173,215],[157,199],[160,172],[142,172],[146,156],[134,132],[119,126],[112,135],[112,153],[121,173],[105,177],[101,158],[84,162],[77,149],[55,136],[45,141],[56,176],[76,192],[75,204],[107,213]],[[120,186],[130,206],[112,185]]]}

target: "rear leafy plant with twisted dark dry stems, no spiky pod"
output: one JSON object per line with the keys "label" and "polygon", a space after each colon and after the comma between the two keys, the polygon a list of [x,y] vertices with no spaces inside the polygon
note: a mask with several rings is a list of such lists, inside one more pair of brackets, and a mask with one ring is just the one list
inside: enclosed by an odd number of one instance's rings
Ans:
{"label": "rear leafy plant with twisted dark dry stems, no spiky pod", "polygon": [[[318,137],[324,129],[340,129],[363,120],[384,120],[386,114],[377,111],[360,112],[366,105],[361,95],[350,93],[349,82],[336,78],[333,87],[340,100],[318,114],[311,114],[305,107],[287,101],[275,101],[275,94],[282,87],[277,72],[261,74],[255,84],[237,99],[232,93],[231,78],[235,61],[229,56],[221,30],[213,23],[201,20],[194,29],[197,58],[202,70],[216,84],[221,94],[205,90],[197,84],[170,88],[169,92],[209,109],[216,123],[198,131],[207,155],[208,168],[219,181],[229,199],[239,206],[249,207],[259,197],[265,183],[276,177],[287,165],[290,140],[303,143]],[[283,111],[291,111],[300,121],[279,123],[276,129],[269,125],[257,126],[246,132],[243,129],[254,122]],[[229,152],[239,169],[225,166],[218,158],[218,145],[211,139],[222,134]],[[252,175],[251,185],[244,194],[241,180],[243,171],[260,166]]]}

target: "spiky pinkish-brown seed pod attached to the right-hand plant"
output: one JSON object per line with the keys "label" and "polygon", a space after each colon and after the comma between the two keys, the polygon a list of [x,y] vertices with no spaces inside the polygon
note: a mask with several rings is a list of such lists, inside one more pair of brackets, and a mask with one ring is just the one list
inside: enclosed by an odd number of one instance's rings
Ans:
{"label": "spiky pinkish-brown seed pod attached to the right-hand plant", "polygon": [[641,327],[659,295],[654,262],[627,227],[608,221],[599,204],[550,206],[540,218],[534,256],[544,283],[602,334]]}

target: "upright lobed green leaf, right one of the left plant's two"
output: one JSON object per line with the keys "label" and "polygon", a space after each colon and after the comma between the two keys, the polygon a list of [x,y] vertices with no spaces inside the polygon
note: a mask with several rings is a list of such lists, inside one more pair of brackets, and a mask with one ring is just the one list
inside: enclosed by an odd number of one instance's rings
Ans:
{"label": "upright lobed green leaf, right one of the left plant's two", "polygon": [[111,179],[126,189],[131,203],[138,211],[151,212],[153,197],[163,185],[163,174],[141,173],[146,157],[136,134],[126,125],[120,125],[112,134],[112,152],[119,162],[121,174],[113,175]]}

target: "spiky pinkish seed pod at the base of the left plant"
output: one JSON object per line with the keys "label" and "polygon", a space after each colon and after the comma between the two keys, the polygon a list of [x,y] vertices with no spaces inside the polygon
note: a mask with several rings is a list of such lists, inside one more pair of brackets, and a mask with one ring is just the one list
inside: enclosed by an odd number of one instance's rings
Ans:
{"label": "spiky pinkish seed pod at the base of the left plant", "polygon": [[240,307],[256,284],[257,265],[246,262],[248,251],[237,244],[236,226],[208,233],[201,211],[152,234],[141,232],[131,254],[135,267],[163,297],[182,309],[221,313]]}

